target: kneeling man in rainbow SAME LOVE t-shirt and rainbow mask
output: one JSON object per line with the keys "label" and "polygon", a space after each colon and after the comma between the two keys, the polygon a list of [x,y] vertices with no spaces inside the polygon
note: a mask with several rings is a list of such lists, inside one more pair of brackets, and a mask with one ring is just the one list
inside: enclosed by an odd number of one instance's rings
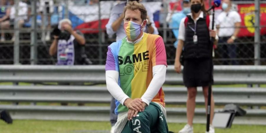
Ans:
{"label": "kneeling man in rainbow SAME LOVE t-shirt and rainbow mask", "polygon": [[161,87],[167,66],[163,38],[143,32],[147,10],[142,4],[130,1],[123,14],[126,36],[108,46],[106,59],[106,85],[118,114],[114,132],[168,133]]}

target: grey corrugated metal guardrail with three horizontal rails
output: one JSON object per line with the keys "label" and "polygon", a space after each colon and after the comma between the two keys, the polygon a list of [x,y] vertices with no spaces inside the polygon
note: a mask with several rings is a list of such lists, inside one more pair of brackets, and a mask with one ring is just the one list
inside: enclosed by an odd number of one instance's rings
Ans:
{"label": "grey corrugated metal guardrail with three horizontal rails", "polygon": [[[42,85],[0,85],[0,109],[10,111],[14,119],[109,121],[109,106],[56,106],[45,103],[110,103],[111,95],[104,85],[55,85],[52,82],[90,82],[104,84],[105,66],[54,66],[54,65],[1,65],[0,82],[30,82]],[[263,84],[266,81],[265,66],[214,66],[216,85]],[[71,76],[69,76],[71,75]],[[176,74],[168,66],[166,84],[163,87],[167,105],[185,105],[185,87],[170,86],[182,84],[182,74]],[[215,112],[228,103],[242,106],[247,114],[236,117],[233,124],[266,125],[265,87],[214,87]],[[11,102],[36,102],[37,105],[11,105]],[[196,102],[204,105],[202,90],[198,90]],[[249,108],[247,108],[249,107]],[[168,122],[186,122],[186,108],[166,107]],[[195,123],[206,122],[204,107],[195,110]]]}

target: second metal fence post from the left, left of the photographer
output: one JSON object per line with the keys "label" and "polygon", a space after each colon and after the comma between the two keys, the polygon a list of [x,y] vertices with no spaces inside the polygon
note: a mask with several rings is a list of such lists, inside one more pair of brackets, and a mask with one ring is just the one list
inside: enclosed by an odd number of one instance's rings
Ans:
{"label": "second metal fence post from the left, left of the photographer", "polygon": [[36,11],[36,0],[31,2],[31,16],[32,16],[32,23],[31,23],[31,32],[30,32],[30,64],[36,64],[37,62],[37,11]]}

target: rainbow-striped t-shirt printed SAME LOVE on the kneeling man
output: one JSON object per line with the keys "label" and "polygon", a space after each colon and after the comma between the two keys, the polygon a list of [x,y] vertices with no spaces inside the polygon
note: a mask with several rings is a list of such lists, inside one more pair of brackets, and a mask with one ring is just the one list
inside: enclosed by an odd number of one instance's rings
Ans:
{"label": "rainbow-striped t-shirt printed SAME LOVE on the kneeling man", "polygon": [[[108,46],[106,71],[119,72],[119,86],[131,99],[141,98],[145,93],[153,78],[153,66],[167,66],[163,38],[159,35],[143,34],[138,43],[130,44],[123,38]],[[165,106],[162,88],[152,101]],[[128,111],[122,104],[116,100],[116,114]]]}

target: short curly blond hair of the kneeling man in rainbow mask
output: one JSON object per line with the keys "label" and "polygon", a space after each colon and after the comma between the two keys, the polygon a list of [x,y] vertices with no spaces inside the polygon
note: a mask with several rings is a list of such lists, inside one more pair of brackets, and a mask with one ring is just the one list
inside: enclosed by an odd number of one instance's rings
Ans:
{"label": "short curly blond hair of the kneeling man in rainbow mask", "polygon": [[140,17],[143,20],[146,20],[147,18],[147,10],[145,9],[145,7],[143,6],[143,4],[138,3],[137,1],[129,1],[126,6],[124,7],[124,17],[126,14],[126,10],[130,9],[130,10],[140,10]]}

